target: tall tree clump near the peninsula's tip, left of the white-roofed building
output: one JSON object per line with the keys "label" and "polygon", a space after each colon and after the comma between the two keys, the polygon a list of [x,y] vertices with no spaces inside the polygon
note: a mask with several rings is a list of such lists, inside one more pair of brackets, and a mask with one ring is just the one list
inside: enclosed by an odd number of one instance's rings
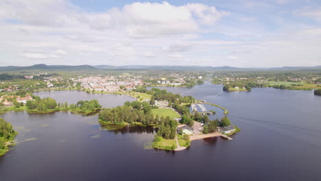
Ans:
{"label": "tall tree clump near the peninsula's tip, left of the white-roofed building", "polygon": [[154,141],[160,141],[160,136],[165,139],[174,139],[177,125],[178,123],[174,119],[166,117],[164,122],[160,124],[157,134],[154,136]]}

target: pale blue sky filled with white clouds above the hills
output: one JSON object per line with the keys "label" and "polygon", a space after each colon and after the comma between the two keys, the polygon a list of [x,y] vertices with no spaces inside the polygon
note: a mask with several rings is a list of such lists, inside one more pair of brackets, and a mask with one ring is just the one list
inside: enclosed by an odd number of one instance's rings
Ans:
{"label": "pale blue sky filled with white clouds above the hills", "polygon": [[321,65],[320,0],[1,0],[0,67]]}

